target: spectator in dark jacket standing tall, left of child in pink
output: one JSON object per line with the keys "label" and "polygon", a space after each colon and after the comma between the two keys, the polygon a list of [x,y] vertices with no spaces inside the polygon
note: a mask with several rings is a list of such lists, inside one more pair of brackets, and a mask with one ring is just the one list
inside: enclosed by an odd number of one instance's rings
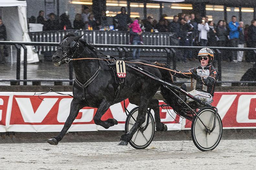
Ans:
{"label": "spectator in dark jacket standing tall, left of child in pink", "polygon": [[132,20],[128,14],[126,14],[126,8],[121,7],[121,13],[114,16],[114,21],[117,22],[117,29],[119,31],[127,31],[128,24],[132,23]]}

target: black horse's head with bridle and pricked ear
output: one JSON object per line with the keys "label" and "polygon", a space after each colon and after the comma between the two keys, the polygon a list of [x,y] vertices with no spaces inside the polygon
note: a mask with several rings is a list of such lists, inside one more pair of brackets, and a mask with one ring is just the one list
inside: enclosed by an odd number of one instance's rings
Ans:
{"label": "black horse's head with bridle and pricked ear", "polygon": [[65,35],[56,53],[52,55],[52,63],[55,66],[60,66],[65,63],[65,58],[72,58],[79,48],[78,40],[82,36],[83,35],[75,36],[73,34]]}

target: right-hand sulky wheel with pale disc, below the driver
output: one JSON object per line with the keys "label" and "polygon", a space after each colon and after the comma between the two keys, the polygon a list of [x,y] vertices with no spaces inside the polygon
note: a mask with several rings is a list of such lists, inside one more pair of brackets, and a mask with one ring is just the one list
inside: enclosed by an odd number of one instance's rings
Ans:
{"label": "right-hand sulky wheel with pale disc, below the driver", "polygon": [[[215,119],[215,110],[211,107],[205,107],[197,112],[202,122],[207,128],[212,129]],[[222,136],[222,121],[217,113],[216,126],[210,134],[206,131],[197,116],[194,117],[191,125],[191,135],[195,146],[201,151],[213,150],[219,144]]]}

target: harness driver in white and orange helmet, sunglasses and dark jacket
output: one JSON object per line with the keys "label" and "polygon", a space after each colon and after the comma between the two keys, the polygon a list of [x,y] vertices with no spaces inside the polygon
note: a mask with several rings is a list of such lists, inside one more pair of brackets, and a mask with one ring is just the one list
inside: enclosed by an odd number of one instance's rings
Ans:
{"label": "harness driver in white and orange helmet, sunglasses and dark jacket", "polygon": [[[171,73],[172,75],[179,78],[195,79],[194,85],[193,85],[194,90],[192,90],[189,93],[195,96],[196,98],[210,104],[213,102],[212,98],[214,95],[216,81],[218,80],[217,70],[212,65],[210,65],[214,59],[214,55],[210,48],[202,48],[198,52],[197,56],[201,64],[200,66],[191,68],[185,72],[177,71],[180,73],[176,73],[176,72],[171,72]],[[192,74],[191,75],[182,74],[182,73],[189,73],[189,72]],[[181,88],[187,91],[186,85],[183,84]],[[186,100],[188,100],[188,102],[193,101],[189,97],[186,97],[183,93],[180,93],[180,97],[185,102]]]}

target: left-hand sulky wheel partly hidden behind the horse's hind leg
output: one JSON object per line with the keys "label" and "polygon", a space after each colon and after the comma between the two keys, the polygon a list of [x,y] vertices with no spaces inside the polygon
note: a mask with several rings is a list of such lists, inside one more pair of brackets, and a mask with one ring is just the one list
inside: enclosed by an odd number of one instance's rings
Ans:
{"label": "left-hand sulky wheel partly hidden behind the horse's hind leg", "polygon": [[[135,107],[130,111],[130,115],[127,116],[126,122],[125,122],[125,133],[128,133],[129,130],[132,128],[132,126],[135,124],[135,121],[138,116],[138,111],[139,111],[139,107]],[[147,128],[144,129],[145,126],[147,125],[147,119],[149,123]],[[154,135],[155,135],[154,118],[153,118],[153,115],[149,113],[149,110],[147,110],[145,122],[135,132],[132,139],[129,141],[129,144],[135,149],[144,149],[150,145],[150,143],[154,138]]]}

